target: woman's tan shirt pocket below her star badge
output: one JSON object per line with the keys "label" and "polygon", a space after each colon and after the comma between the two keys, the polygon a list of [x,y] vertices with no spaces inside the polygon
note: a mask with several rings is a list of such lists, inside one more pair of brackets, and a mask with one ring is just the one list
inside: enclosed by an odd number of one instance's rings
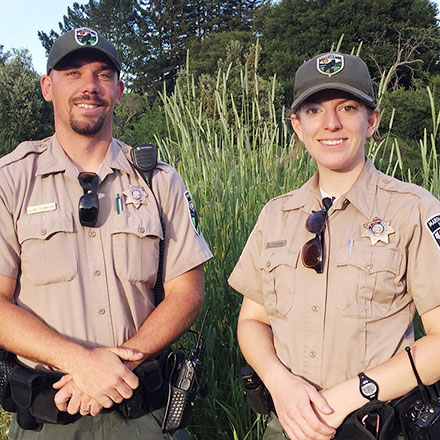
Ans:
{"label": "woman's tan shirt pocket below her star badge", "polygon": [[398,293],[399,251],[355,243],[338,252],[337,284],[343,316],[374,319],[387,315]]}

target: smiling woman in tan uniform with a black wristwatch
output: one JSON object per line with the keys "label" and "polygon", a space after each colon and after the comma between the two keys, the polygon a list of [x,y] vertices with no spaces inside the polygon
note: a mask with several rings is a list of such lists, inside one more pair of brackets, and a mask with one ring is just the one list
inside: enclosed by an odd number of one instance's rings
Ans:
{"label": "smiling woman in tan uniform with a black wristwatch", "polygon": [[[365,157],[379,110],[360,58],[314,57],[294,93],[317,172],[263,208],[229,283],[244,295],[241,350],[278,416],[264,438],[327,440],[370,400],[417,385],[406,346],[425,384],[440,378],[440,202]],[[414,342],[416,309],[426,336]]]}

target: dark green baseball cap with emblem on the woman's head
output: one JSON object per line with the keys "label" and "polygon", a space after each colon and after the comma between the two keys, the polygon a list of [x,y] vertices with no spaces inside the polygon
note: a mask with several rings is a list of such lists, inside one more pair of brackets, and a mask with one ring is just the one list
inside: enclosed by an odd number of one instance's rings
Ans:
{"label": "dark green baseball cap with emblem on the woman's head", "polygon": [[357,56],[339,52],[316,55],[295,75],[292,110],[322,90],[342,90],[375,108],[373,85],[367,65]]}

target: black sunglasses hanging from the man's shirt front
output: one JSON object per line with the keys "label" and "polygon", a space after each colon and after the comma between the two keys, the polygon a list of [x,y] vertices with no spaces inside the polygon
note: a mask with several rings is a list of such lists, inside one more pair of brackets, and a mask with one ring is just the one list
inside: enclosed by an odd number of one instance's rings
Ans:
{"label": "black sunglasses hanging from the man's shirt front", "polygon": [[84,190],[78,203],[79,221],[82,226],[93,228],[98,221],[98,175],[96,173],[82,172],[78,175],[79,184]]}

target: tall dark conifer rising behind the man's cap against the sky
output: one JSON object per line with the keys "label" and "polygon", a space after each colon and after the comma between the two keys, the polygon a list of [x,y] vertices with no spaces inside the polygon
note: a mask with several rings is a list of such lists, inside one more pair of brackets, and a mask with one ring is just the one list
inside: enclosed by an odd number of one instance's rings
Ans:
{"label": "tall dark conifer rising behind the man's cap against the sky", "polygon": [[[89,0],[68,8],[59,30],[40,31],[49,51],[53,41],[78,26],[100,31],[118,47],[131,90],[151,102],[165,85],[171,90],[185,65],[187,50],[211,33],[250,31],[254,14],[269,0]],[[219,47],[219,56],[224,47]]]}

